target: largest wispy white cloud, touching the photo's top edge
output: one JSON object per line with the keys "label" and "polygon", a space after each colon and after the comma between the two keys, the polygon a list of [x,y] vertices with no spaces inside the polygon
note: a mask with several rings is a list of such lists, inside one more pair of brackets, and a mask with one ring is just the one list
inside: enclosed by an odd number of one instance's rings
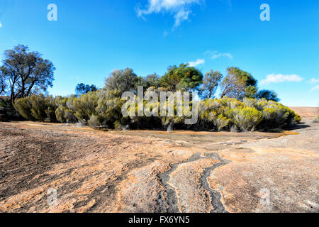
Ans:
{"label": "largest wispy white cloud, touching the photo's top edge", "polygon": [[191,5],[201,4],[203,0],[147,0],[146,9],[136,7],[136,13],[139,17],[152,13],[172,13],[174,14],[174,28],[181,25],[181,22],[189,19]]}

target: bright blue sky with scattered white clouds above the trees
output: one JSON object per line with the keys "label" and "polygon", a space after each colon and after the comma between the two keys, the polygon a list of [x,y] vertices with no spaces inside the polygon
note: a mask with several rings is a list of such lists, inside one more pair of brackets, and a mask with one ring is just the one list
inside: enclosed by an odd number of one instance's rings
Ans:
{"label": "bright blue sky with scattered white clouds above the trees", "polygon": [[54,63],[53,95],[103,87],[114,69],[145,77],[191,62],[203,73],[240,67],[288,106],[319,104],[319,1],[0,0],[0,52],[18,44]]}

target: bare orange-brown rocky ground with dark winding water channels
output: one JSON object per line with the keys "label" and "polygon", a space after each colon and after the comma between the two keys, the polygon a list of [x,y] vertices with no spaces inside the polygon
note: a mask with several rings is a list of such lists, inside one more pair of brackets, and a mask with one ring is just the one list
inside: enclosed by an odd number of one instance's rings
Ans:
{"label": "bare orange-brown rocky ground with dark winding water channels", "polygon": [[318,212],[318,141],[310,121],[282,133],[0,123],[0,211]]}

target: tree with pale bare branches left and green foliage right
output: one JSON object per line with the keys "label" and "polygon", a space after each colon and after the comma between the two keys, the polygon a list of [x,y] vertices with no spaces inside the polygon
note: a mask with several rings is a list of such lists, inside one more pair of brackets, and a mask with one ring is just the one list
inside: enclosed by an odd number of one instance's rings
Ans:
{"label": "tree with pale bare branches left and green foliage right", "polygon": [[221,97],[229,96],[236,99],[254,97],[257,93],[257,80],[248,72],[237,67],[228,67],[228,75],[221,82]]}

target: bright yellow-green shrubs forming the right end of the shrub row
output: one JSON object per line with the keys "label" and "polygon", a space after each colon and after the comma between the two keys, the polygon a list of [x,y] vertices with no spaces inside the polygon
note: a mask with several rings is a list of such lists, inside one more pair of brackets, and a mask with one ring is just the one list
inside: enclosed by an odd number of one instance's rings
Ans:
{"label": "bright yellow-green shrubs forming the right end of the shrub row", "polygon": [[283,128],[301,121],[288,107],[266,99],[206,99],[201,102],[199,111],[201,125],[219,131]]}

